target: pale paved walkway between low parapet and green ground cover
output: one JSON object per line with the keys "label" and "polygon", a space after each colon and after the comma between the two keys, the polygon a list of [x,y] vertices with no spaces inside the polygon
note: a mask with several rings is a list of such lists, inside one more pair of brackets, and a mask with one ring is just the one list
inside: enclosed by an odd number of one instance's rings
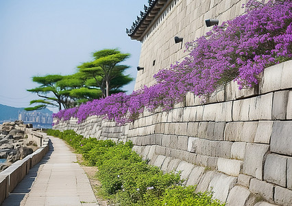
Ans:
{"label": "pale paved walkway between low parapet and green ground cover", "polygon": [[50,139],[47,155],[29,170],[2,206],[99,205],[76,155],[61,139]]}

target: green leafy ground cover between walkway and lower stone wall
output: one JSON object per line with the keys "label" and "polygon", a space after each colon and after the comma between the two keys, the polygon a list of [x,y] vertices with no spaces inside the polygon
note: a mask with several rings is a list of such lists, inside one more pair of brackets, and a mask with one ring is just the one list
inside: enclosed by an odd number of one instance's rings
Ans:
{"label": "green leafy ground cover between walkway and lower stone wall", "polygon": [[84,138],[73,130],[47,130],[48,135],[60,137],[89,165],[97,166],[101,194],[118,205],[225,205],[212,199],[212,192],[195,192],[195,186],[182,185],[180,174],[163,173],[148,165],[132,151],[131,141]]}

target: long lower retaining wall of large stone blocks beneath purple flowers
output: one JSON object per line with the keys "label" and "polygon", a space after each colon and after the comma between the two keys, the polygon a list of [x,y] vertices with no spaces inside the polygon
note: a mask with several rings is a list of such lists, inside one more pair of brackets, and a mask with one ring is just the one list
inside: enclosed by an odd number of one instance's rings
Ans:
{"label": "long lower retaining wall of large stone blocks beneath purple flowers", "polygon": [[173,110],[145,111],[125,126],[93,116],[54,128],[131,140],[149,163],[182,171],[186,185],[212,188],[229,205],[291,205],[292,60],[265,69],[255,89],[230,82],[200,102],[189,93]]}

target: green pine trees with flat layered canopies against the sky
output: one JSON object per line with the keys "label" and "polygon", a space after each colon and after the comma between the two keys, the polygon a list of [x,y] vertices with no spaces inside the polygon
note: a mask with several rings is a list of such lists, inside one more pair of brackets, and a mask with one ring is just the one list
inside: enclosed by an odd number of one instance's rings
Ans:
{"label": "green pine trees with flat layered canopies against the sky", "polygon": [[103,49],[94,52],[93,60],[82,63],[77,67],[77,73],[72,75],[34,76],[32,81],[40,86],[27,91],[36,93],[42,99],[32,100],[30,104],[37,105],[25,110],[38,110],[47,106],[61,110],[105,98],[112,93],[124,92],[121,88],[132,82],[133,78],[123,74],[129,66],[119,63],[129,57],[130,54],[123,54],[118,49]]}

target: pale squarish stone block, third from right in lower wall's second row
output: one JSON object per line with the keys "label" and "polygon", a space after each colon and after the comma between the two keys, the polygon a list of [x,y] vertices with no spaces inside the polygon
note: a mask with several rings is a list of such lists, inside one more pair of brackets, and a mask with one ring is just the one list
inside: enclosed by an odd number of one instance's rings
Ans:
{"label": "pale squarish stone block, third from right in lower wall's second row", "polygon": [[267,93],[250,99],[250,120],[271,120],[273,93]]}

